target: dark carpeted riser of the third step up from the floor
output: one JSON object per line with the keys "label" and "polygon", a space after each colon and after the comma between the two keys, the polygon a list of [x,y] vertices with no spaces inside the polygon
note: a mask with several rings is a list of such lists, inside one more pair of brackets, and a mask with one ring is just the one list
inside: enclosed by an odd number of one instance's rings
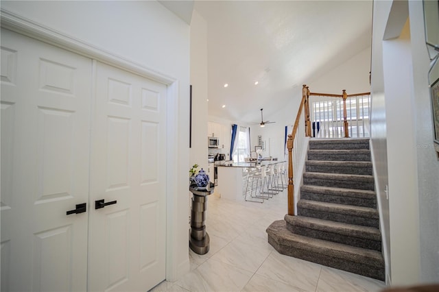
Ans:
{"label": "dark carpeted riser of the third step up from the floor", "polygon": [[297,211],[298,211],[298,215],[300,216],[379,228],[379,220],[375,218],[360,217],[359,215],[352,216],[352,215],[346,215],[346,214],[340,214],[334,212],[326,212],[322,210],[305,209],[300,207],[297,208]]}

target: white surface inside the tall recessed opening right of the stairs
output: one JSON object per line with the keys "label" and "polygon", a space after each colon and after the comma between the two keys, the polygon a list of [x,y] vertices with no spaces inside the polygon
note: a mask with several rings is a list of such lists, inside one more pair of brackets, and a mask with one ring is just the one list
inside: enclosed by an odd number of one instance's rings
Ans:
{"label": "white surface inside the tall recessed opening right of the stairs", "polygon": [[419,278],[419,214],[411,55],[410,31],[406,24],[399,38],[383,42],[390,259],[394,284],[410,284]]}

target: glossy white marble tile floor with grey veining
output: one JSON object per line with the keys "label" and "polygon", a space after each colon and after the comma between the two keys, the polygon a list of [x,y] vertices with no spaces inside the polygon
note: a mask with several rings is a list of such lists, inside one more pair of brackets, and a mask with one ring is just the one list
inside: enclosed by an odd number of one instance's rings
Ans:
{"label": "glossy white marble tile floor with grey veining", "polygon": [[268,244],[265,229],[287,212],[287,191],[263,204],[211,195],[207,254],[189,249],[191,271],[151,291],[381,291],[384,282],[284,256]]}

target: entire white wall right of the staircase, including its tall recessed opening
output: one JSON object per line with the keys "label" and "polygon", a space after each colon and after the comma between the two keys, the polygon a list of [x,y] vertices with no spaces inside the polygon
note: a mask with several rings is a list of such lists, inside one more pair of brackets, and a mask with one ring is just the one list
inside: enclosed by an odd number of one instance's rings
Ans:
{"label": "entire white wall right of the staircase, including its tall recessed opening", "polygon": [[392,285],[438,282],[439,162],[422,1],[375,1],[373,29],[372,150],[388,273]]}

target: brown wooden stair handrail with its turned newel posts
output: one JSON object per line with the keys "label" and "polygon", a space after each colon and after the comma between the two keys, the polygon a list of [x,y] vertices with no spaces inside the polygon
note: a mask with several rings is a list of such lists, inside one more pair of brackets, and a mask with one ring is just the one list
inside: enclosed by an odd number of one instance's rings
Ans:
{"label": "brown wooden stair handrail with its turned newel posts", "polygon": [[346,99],[348,97],[357,97],[362,95],[370,95],[370,93],[356,93],[353,95],[346,94],[346,90],[342,90],[341,95],[333,95],[329,93],[311,93],[309,92],[309,87],[306,84],[302,86],[302,101],[300,101],[300,106],[297,112],[296,120],[294,121],[294,126],[292,134],[288,135],[287,139],[287,149],[288,149],[288,215],[294,216],[294,167],[293,167],[293,147],[294,140],[297,136],[297,130],[300,123],[300,115],[302,110],[305,108],[305,136],[311,136],[311,121],[309,119],[309,97],[311,95],[320,97],[338,97],[343,99],[343,124],[344,124],[344,137],[349,138],[349,125],[347,119],[346,110]]}

